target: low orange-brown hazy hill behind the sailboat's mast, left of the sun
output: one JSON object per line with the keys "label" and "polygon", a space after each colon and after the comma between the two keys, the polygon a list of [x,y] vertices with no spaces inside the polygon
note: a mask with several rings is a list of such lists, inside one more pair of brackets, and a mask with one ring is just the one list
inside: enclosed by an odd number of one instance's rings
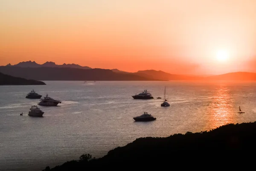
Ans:
{"label": "low orange-brown hazy hill behind the sailboat's mast, left of the sun", "polygon": [[202,80],[203,77],[201,76],[190,76],[190,75],[177,75],[177,74],[169,74],[163,71],[156,71],[156,70],[144,70],[134,72],[136,75],[140,75],[143,77],[151,77],[151,78],[158,78],[161,80]]}

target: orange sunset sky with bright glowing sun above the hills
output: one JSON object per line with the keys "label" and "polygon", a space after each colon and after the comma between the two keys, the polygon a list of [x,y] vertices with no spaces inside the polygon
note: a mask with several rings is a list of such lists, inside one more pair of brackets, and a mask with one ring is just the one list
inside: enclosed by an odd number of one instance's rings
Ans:
{"label": "orange sunset sky with bright glowing sun above the hills", "polygon": [[256,0],[0,0],[0,66],[256,72]]}

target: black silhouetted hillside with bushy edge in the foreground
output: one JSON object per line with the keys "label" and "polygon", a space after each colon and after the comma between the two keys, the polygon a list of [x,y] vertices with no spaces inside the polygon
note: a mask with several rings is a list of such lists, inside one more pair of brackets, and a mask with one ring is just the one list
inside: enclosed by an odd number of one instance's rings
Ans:
{"label": "black silhouetted hillside with bushy edge in the foreground", "polygon": [[[165,138],[146,137],[118,147],[99,159],[85,154],[44,171],[83,171],[86,168],[188,168],[198,165],[253,166],[256,152],[256,122],[228,124],[200,133],[174,134]],[[173,170],[168,169],[168,170]]]}

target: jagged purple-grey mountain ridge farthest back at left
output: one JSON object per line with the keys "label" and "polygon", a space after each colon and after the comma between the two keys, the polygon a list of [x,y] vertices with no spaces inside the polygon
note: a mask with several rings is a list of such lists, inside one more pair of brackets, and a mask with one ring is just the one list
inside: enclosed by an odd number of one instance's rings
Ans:
{"label": "jagged purple-grey mountain ridge farthest back at left", "polygon": [[26,62],[20,62],[19,64],[6,65],[8,67],[59,67],[59,68],[79,68],[79,69],[91,69],[90,67],[82,67],[78,64],[63,64],[63,65],[57,65],[55,62],[46,62],[44,64],[37,64],[35,61],[26,61]]}

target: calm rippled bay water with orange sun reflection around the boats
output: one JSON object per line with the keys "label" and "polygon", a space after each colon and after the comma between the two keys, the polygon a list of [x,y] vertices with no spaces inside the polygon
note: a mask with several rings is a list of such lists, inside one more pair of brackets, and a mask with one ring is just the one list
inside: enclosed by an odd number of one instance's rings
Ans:
{"label": "calm rippled bay water with orange sun reflection around the boats", "polygon": [[[0,169],[41,171],[90,153],[102,157],[145,136],[211,130],[227,123],[256,121],[256,82],[45,81],[44,86],[0,87]],[[164,86],[170,107],[160,107]],[[60,99],[41,107],[43,118],[27,115],[39,99],[32,89]],[[155,99],[134,100],[147,89]],[[237,113],[241,110],[245,113]],[[23,116],[19,114],[23,112]],[[148,112],[153,122],[134,122]]]}

